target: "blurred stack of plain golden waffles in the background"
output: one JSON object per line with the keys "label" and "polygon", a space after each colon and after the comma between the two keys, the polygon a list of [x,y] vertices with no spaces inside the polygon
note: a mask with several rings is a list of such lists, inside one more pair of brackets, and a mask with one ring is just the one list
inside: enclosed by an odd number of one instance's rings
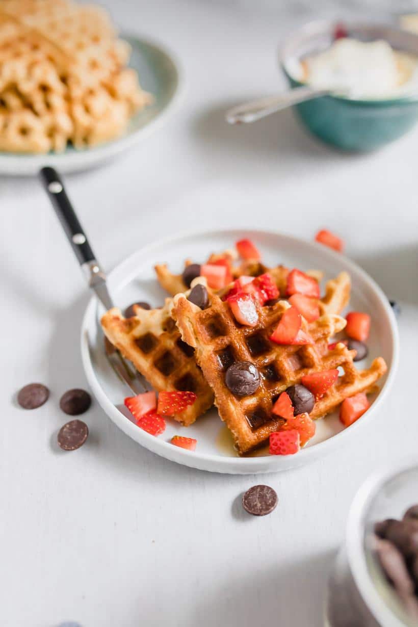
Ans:
{"label": "blurred stack of plain golden waffles in the background", "polygon": [[151,98],[108,14],[71,0],[0,4],[0,150],[48,152],[121,135]]}

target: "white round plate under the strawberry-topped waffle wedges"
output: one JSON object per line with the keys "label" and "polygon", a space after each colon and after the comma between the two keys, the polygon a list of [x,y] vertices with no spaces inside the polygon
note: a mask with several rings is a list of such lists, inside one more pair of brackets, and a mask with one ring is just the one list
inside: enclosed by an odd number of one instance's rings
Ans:
{"label": "white round plate under the strawberry-topped waffle wedges", "polygon": [[[245,474],[275,472],[300,466],[323,456],[335,446],[344,446],[347,438],[361,437],[365,423],[373,419],[385,394],[392,384],[397,367],[399,339],[397,323],[389,301],[378,285],[355,263],[345,256],[334,253],[325,246],[306,242],[280,233],[264,231],[212,231],[187,233],[157,241],[134,253],[120,264],[108,278],[110,293],[119,307],[145,300],[153,307],[164,303],[167,294],[159,287],[154,273],[156,263],[168,263],[172,271],[179,272],[184,260],[190,257],[203,261],[213,251],[231,248],[234,242],[248,237],[259,247],[263,262],[268,266],[283,263],[290,268],[301,270],[319,269],[325,271],[325,278],[335,277],[347,270],[352,277],[351,310],[368,312],[372,317],[372,330],[368,339],[369,357],[357,366],[367,367],[374,357],[382,356],[387,362],[388,373],[379,382],[380,393],[373,398],[372,406],[360,420],[344,429],[338,416],[330,415],[316,422],[316,435],[308,445],[296,455],[268,455],[266,450],[257,455],[239,458],[232,446],[226,426],[221,422],[216,409],[211,409],[197,419],[190,427],[182,427],[168,420],[165,432],[154,437],[138,428],[128,416],[123,406],[125,396],[132,396],[119,381],[108,364],[103,350],[103,333],[98,323],[103,310],[96,298],[92,298],[81,328],[81,354],[88,382],[108,416],[130,438],[150,451],[177,463],[211,472]],[[174,435],[196,438],[196,451],[187,451],[170,444]]]}

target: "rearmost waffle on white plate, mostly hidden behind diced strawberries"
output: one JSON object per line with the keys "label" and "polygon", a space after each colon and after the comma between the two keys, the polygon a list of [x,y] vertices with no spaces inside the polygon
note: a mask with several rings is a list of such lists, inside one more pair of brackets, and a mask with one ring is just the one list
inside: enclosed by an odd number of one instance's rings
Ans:
{"label": "rearmost waffle on white plate, mostly hidden behind diced strawberries", "polygon": [[[222,255],[219,256],[225,256],[225,254],[222,253]],[[185,262],[185,266],[188,266],[191,263],[192,261],[188,259]],[[243,275],[258,277],[259,275],[268,272],[271,277],[273,277],[281,296],[284,297],[286,294],[289,271],[289,268],[282,265],[274,268],[268,268],[259,261],[247,261],[240,266],[233,267],[233,276],[234,278],[238,278]],[[155,272],[157,273],[157,278],[161,287],[167,290],[167,292],[169,292],[172,296],[187,290],[187,286],[183,282],[182,275],[172,274],[169,268],[167,268],[167,265],[161,264],[155,266]],[[319,270],[308,270],[306,274],[315,278],[318,283],[323,277],[323,273]],[[229,291],[230,288],[231,285],[228,285],[226,288],[219,290],[217,294],[222,297]],[[351,280],[350,275],[347,272],[340,272],[338,277],[328,281],[325,285],[325,295],[318,300],[321,315],[340,314],[350,300],[350,291]]]}

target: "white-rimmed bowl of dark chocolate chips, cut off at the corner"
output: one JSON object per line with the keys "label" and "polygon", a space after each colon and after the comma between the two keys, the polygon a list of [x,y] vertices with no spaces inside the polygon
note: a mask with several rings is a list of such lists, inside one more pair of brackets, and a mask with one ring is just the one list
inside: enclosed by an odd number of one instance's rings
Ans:
{"label": "white-rimmed bowl of dark chocolate chips, cut off at the corner", "polygon": [[418,625],[418,462],[375,473],[350,508],[328,586],[328,627]]}

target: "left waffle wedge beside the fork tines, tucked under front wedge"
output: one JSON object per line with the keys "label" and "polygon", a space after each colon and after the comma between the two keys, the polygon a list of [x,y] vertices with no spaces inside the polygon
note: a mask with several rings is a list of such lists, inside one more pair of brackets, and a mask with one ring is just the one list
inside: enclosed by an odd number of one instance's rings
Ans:
{"label": "left waffle wedge beside the fork tines, tucked under front wedge", "polygon": [[214,400],[194,359],[194,349],[182,341],[170,317],[167,299],[162,309],[135,307],[135,316],[124,318],[120,309],[110,309],[102,317],[106,337],[157,391],[194,392],[195,403],[174,418],[188,426],[209,409]]}

